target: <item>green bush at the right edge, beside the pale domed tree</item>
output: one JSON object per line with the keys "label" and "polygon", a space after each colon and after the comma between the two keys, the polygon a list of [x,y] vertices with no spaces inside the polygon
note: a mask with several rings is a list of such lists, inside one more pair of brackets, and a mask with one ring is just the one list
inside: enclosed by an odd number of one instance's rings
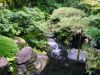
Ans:
{"label": "green bush at the right edge, beside the pale domed tree", "polygon": [[89,27],[85,28],[85,35],[91,39],[91,45],[100,49],[100,14],[88,17]]}

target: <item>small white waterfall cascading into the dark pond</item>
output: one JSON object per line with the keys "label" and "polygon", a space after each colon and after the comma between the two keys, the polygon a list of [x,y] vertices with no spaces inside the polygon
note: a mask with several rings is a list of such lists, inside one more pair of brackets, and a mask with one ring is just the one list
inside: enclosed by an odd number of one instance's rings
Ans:
{"label": "small white waterfall cascading into the dark pond", "polygon": [[66,50],[62,49],[58,43],[56,42],[55,39],[53,38],[48,38],[48,44],[50,45],[50,47],[52,48],[52,51],[50,53],[50,56],[56,60],[60,60],[61,62],[63,62],[64,60],[66,60],[67,58],[67,52]]}

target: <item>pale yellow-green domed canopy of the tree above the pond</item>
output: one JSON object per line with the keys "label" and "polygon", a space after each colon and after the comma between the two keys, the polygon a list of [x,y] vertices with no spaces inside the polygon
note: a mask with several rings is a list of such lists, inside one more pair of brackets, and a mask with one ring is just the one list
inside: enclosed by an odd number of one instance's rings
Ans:
{"label": "pale yellow-green domed canopy of the tree above the pond", "polygon": [[[77,31],[88,24],[85,13],[76,8],[62,7],[54,10],[51,18],[41,25],[44,32]],[[67,30],[68,29],[68,30]]]}

